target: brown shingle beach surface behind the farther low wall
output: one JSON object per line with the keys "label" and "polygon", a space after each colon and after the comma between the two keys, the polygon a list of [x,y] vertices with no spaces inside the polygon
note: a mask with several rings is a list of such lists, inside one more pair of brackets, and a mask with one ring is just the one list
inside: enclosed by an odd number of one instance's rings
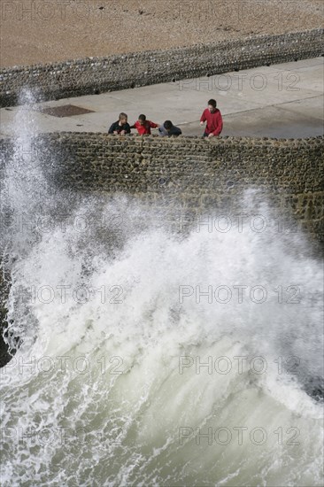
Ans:
{"label": "brown shingle beach surface behind the farther low wall", "polygon": [[1,1],[0,66],[170,49],[323,26],[321,0]]}

